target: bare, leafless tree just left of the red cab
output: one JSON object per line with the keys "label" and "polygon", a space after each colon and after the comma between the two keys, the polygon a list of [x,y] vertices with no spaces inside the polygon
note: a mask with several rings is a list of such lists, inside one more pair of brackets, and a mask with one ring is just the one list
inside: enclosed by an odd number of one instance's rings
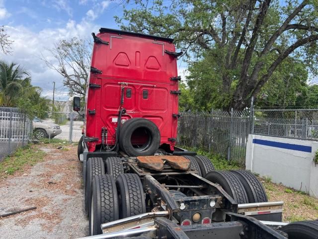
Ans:
{"label": "bare, leafless tree just left of the red cab", "polygon": [[73,37],[46,49],[53,56],[53,61],[41,54],[45,64],[64,77],[64,85],[70,89],[71,95],[85,96],[91,47],[87,40]]}

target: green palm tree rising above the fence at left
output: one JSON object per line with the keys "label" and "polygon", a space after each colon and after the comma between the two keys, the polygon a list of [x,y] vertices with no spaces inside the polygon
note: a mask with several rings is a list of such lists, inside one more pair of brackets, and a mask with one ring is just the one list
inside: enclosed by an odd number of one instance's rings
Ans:
{"label": "green palm tree rising above the fence at left", "polygon": [[18,99],[29,97],[41,88],[31,85],[30,74],[20,65],[0,61],[0,106],[15,107]]}

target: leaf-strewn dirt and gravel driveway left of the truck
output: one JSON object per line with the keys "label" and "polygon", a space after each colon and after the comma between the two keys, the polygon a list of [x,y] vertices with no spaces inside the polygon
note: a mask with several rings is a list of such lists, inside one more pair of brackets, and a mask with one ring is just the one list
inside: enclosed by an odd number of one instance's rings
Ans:
{"label": "leaf-strewn dirt and gravel driveway left of the truck", "polygon": [[77,159],[76,146],[57,149],[39,145],[37,148],[47,152],[43,162],[0,179],[0,210],[32,206],[37,209],[0,218],[0,238],[87,236],[82,163]]}

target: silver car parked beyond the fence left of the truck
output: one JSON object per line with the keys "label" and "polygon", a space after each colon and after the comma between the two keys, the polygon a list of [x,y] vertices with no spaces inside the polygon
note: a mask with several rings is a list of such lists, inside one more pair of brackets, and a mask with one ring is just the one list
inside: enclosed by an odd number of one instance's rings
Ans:
{"label": "silver car parked beyond the fence left of the truck", "polygon": [[60,125],[56,123],[47,123],[42,119],[35,117],[33,119],[33,134],[36,139],[54,138],[56,135],[62,133]]}

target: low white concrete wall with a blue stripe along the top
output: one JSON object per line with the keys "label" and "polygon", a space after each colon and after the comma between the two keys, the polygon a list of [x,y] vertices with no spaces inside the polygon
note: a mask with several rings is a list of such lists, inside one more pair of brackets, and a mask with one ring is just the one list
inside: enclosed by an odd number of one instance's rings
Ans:
{"label": "low white concrete wall with a blue stripe along the top", "polygon": [[246,169],[318,198],[318,142],[250,134]]}

